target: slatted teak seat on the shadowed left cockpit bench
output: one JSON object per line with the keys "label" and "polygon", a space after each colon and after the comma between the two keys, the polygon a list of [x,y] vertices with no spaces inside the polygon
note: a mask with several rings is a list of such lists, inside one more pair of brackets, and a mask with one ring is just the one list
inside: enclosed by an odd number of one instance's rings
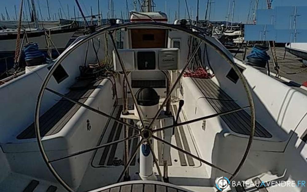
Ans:
{"label": "slatted teak seat on the shadowed left cockpit bench", "polygon": [[[77,86],[80,81],[72,86],[70,92],[65,96],[78,100],[84,103],[91,93],[101,83],[101,80],[82,82],[82,86]],[[40,117],[40,131],[41,136],[48,136],[58,133],[64,125],[72,118],[72,116],[79,110],[80,105],[74,104],[68,100],[61,99],[53,105],[47,112]],[[17,139],[32,139],[35,138],[34,123],[22,131]]]}

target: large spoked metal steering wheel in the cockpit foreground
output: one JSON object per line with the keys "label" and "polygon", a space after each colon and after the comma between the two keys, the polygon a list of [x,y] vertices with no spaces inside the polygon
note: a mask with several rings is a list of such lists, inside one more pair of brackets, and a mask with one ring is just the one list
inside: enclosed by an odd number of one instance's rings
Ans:
{"label": "large spoked metal steering wheel in the cockpit foreground", "polygon": [[[173,86],[170,88],[169,93],[166,95],[165,100],[163,101],[161,107],[157,111],[157,113],[156,113],[155,117],[153,118],[153,120],[150,122],[149,126],[144,126],[144,120],[142,119],[142,116],[140,115],[140,109],[139,109],[139,107],[137,105],[134,92],[133,92],[132,87],[131,87],[131,85],[129,83],[127,71],[126,71],[125,66],[123,64],[122,58],[119,55],[119,51],[118,51],[118,49],[116,47],[116,43],[115,43],[115,40],[114,40],[114,37],[113,37],[113,32],[115,30],[119,30],[119,29],[126,28],[126,27],[144,27],[144,28],[157,27],[157,28],[160,28],[160,29],[177,30],[177,31],[188,33],[191,37],[194,37],[195,39],[197,39],[199,41],[198,45],[196,46],[196,49],[193,51],[193,53],[191,54],[191,56],[188,59],[188,61],[186,61],[182,71],[180,72],[179,76],[177,77],[177,79],[173,83]],[[141,137],[140,142],[137,145],[138,147],[133,152],[133,155],[126,162],[126,164],[124,166],[124,169],[122,170],[122,173],[119,175],[119,178],[118,178],[117,182],[120,182],[122,180],[123,175],[125,174],[126,170],[130,167],[130,164],[131,164],[132,160],[134,159],[134,157],[137,155],[137,152],[138,152],[139,147],[141,146],[141,144],[143,142],[147,142],[149,139],[156,139],[156,140],[164,143],[165,145],[169,145],[173,149],[176,149],[176,150],[178,150],[178,151],[180,151],[180,152],[182,152],[182,153],[184,153],[186,155],[191,156],[194,159],[199,160],[202,163],[205,163],[205,164],[207,164],[207,165],[209,165],[209,166],[211,166],[211,167],[213,167],[215,169],[218,169],[218,170],[221,170],[221,171],[223,171],[223,172],[225,172],[227,174],[230,174],[231,177],[229,178],[229,180],[232,180],[239,173],[239,171],[242,168],[245,160],[247,159],[247,155],[248,155],[248,153],[249,153],[249,151],[251,149],[251,144],[252,144],[253,137],[254,137],[254,132],[255,132],[255,107],[254,107],[254,103],[253,103],[253,99],[252,99],[250,88],[249,88],[249,86],[247,84],[247,80],[242,75],[242,73],[240,72],[239,68],[237,67],[237,65],[233,61],[233,59],[231,57],[229,57],[226,53],[224,53],[223,50],[220,47],[218,47],[217,45],[215,45],[214,43],[212,43],[211,41],[206,39],[206,36],[203,33],[195,33],[191,29],[195,29],[196,31],[198,30],[198,28],[196,28],[195,26],[185,26],[184,27],[184,26],[179,26],[179,25],[170,25],[170,24],[155,23],[155,22],[125,23],[125,24],[119,24],[119,25],[112,25],[112,26],[109,26],[109,27],[102,27],[102,28],[98,28],[96,32],[94,32],[91,35],[85,37],[84,39],[80,40],[76,44],[70,46],[68,49],[66,49],[58,57],[58,59],[56,60],[56,62],[52,66],[52,68],[49,70],[49,73],[47,74],[47,76],[45,77],[44,82],[41,85],[41,89],[40,89],[40,92],[39,92],[39,95],[38,95],[38,99],[37,99],[36,110],[35,110],[35,131],[36,131],[37,143],[39,145],[40,152],[41,152],[41,154],[43,156],[43,159],[44,159],[47,167],[52,172],[52,174],[57,179],[57,181],[60,182],[60,184],[66,190],[68,190],[70,192],[74,192],[74,190],[70,186],[68,186],[68,184],[60,177],[60,175],[54,169],[54,167],[52,166],[53,162],[60,161],[62,159],[67,159],[67,158],[70,158],[70,157],[73,157],[73,156],[76,156],[76,155],[80,155],[80,154],[83,154],[83,153],[87,153],[87,152],[90,152],[90,151],[95,151],[97,149],[113,145],[115,143],[125,142],[125,141],[127,141],[129,139],[136,138],[136,137]],[[118,57],[118,59],[119,59],[119,63],[121,65],[122,72],[123,72],[124,78],[126,80],[127,87],[129,88],[129,90],[131,92],[132,100],[133,100],[133,102],[134,102],[134,104],[136,106],[138,115],[140,117],[140,121],[141,121],[142,127],[143,127],[142,129],[140,129],[139,127],[135,127],[135,126],[133,126],[133,125],[131,125],[129,123],[126,123],[124,121],[118,120],[118,119],[116,119],[115,117],[113,117],[111,115],[108,115],[108,114],[106,114],[106,113],[104,113],[102,111],[99,111],[99,110],[97,110],[95,108],[92,108],[92,107],[90,107],[88,105],[85,105],[83,103],[80,103],[80,102],[78,102],[78,101],[76,101],[74,99],[71,99],[71,98],[69,98],[69,97],[67,97],[67,96],[65,96],[65,95],[63,95],[63,94],[61,94],[61,93],[59,93],[57,91],[54,91],[54,90],[52,90],[52,89],[47,87],[47,84],[48,84],[50,78],[52,77],[53,72],[60,65],[60,63],[70,53],[72,53],[72,51],[74,51],[75,49],[77,49],[78,47],[80,47],[81,45],[86,43],[87,41],[91,41],[93,38],[95,38],[95,37],[97,37],[97,36],[99,36],[101,34],[104,34],[104,33],[107,33],[111,37],[111,40],[112,40],[112,43],[113,43],[113,46],[114,46],[114,49],[115,49],[116,57]],[[186,122],[176,123],[176,124],[171,125],[171,126],[161,127],[159,129],[152,130],[153,122],[157,119],[158,115],[163,110],[163,107],[168,102],[168,100],[170,100],[171,94],[175,90],[176,85],[181,80],[181,77],[183,76],[183,74],[184,74],[185,70],[187,69],[188,65],[193,61],[193,59],[194,59],[195,55],[197,54],[200,46],[203,45],[203,44],[205,44],[206,46],[209,46],[210,48],[214,49],[217,53],[219,53],[223,57],[223,59],[225,59],[231,65],[232,69],[234,69],[234,71],[239,76],[239,79],[241,80],[241,82],[243,84],[244,90],[245,90],[246,95],[247,95],[249,106],[248,107],[244,107],[244,108],[239,108],[239,109],[236,109],[236,110],[227,111],[227,112],[217,113],[217,114],[214,114],[214,115],[204,116],[204,117],[197,118],[197,119],[194,119],[194,120],[188,120]],[[119,139],[117,141],[113,141],[113,142],[110,142],[110,143],[105,143],[105,144],[102,144],[102,145],[99,145],[99,146],[96,146],[96,147],[92,147],[92,148],[89,148],[89,149],[86,149],[86,150],[78,151],[76,153],[63,156],[61,158],[49,160],[48,156],[46,155],[43,143],[42,143],[41,131],[40,131],[40,125],[39,125],[39,119],[40,119],[39,112],[40,112],[42,97],[43,97],[43,94],[44,94],[45,90],[47,90],[49,92],[52,92],[52,93],[54,93],[54,94],[56,94],[56,95],[58,95],[58,96],[60,96],[60,97],[62,97],[64,99],[66,99],[66,100],[68,100],[68,101],[70,101],[70,102],[72,102],[74,104],[78,104],[78,105],[80,105],[80,106],[82,106],[84,108],[87,108],[88,110],[90,110],[92,112],[98,113],[98,114],[100,114],[102,116],[105,116],[107,118],[115,120],[116,122],[121,123],[121,124],[123,124],[123,125],[125,125],[127,127],[131,127],[133,129],[135,129],[136,131],[138,131],[138,134],[134,135],[134,136],[130,136],[130,137],[127,136],[124,139]],[[240,110],[243,110],[243,109],[246,109],[246,108],[250,108],[250,112],[251,112],[251,119],[250,119],[251,120],[251,131],[250,131],[250,135],[249,135],[249,139],[248,139],[248,143],[247,143],[244,155],[243,155],[239,165],[236,167],[236,169],[235,169],[235,171],[233,173],[230,173],[229,171],[224,170],[221,167],[218,167],[218,166],[216,166],[216,165],[214,165],[212,163],[209,163],[208,161],[206,161],[204,159],[201,159],[200,157],[197,157],[197,156],[191,154],[190,152],[185,151],[185,150],[183,150],[183,149],[181,149],[181,148],[179,148],[179,147],[177,147],[177,146],[175,146],[175,145],[173,145],[173,144],[171,144],[171,143],[169,143],[169,142],[167,142],[167,141],[165,141],[163,139],[160,139],[159,137],[156,137],[156,136],[153,135],[157,131],[162,131],[162,130],[170,129],[170,128],[177,127],[177,126],[180,126],[180,125],[186,125],[186,124],[189,124],[189,123],[194,123],[196,121],[201,121],[201,120],[209,119],[209,118],[212,118],[212,117],[217,117],[217,116],[222,116],[222,115],[230,114],[230,113],[237,112],[237,111],[240,111]],[[150,143],[150,142],[147,142],[147,143]],[[150,151],[151,151],[151,153],[153,155],[154,163],[155,163],[156,168],[157,168],[157,170],[159,172],[159,175],[160,175],[160,177],[161,177],[161,179],[163,181],[161,170],[159,168],[159,165],[158,165],[158,162],[157,162],[157,159],[156,159],[156,155],[155,155],[155,153],[153,151],[152,144],[149,144],[149,146],[150,146]]]}

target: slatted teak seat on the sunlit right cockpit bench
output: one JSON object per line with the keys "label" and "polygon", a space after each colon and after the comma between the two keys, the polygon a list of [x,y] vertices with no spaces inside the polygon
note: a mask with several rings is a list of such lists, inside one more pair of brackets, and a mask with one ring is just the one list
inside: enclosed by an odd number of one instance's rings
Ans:
{"label": "slatted teak seat on the sunlit right cockpit bench", "polygon": [[[239,109],[240,106],[210,79],[191,78],[204,94],[209,104],[217,113]],[[221,116],[228,127],[239,134],[250,135],[251,116],[244,110]],[[255,136],[270,138],[272,135],[260,125],[255,124]]]}

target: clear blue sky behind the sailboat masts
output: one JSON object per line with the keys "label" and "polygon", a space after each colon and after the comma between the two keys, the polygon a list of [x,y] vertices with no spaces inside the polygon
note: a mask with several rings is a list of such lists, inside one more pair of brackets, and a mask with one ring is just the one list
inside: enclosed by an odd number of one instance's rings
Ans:
{"label": "clear blue sky behind the sailboat masts", "polygon": [[[27,5],[27,0],[24,0],[26,3],[26,7],[24,7],[24,10],[27,11],[28,17],[29,17],[29,10]],[[29,0],[30,1],[30,0]],[[48,10],[47,10],[47,0],[34,0],[34,2],[37,4],[39,2],[41,7],[41,14],[43,19],[47,20],[48,18]],[[69,7],[69,15],[70,17],[73,17],[73,8],[75,6],[77,10],[77,6],[75,3],[75,0],[48,0],[49,1],[49,9],[51,15],[58,15],[58,10],[61,9],[62,16],[65,18],[65,15],[68,16],[67,11],[67,5]],[[103,12],[103,18],[106,18],[106,13],[108,10],[108,1],[109,0],[99,0],[100,2],[100,10]],[[115,14],[120,17],[121,11],[123,11],[123,14],[125,16],[126,14],[126,0],[113,0],[114,1],[114,9]],[[135,0],[127,0],[129,10],[134,9],[133,2]],[[141,1],[141,0],[140,0]],[[185,0],[179,0],[180,1],[180,16],[181,18],[184,18],[186,13],[186,5]],[[208,0],[210,1],[210,0]],[[235,22],[246,22],[247,15],[250,10],[250,3],[251,1],[255,2],[255,0],[235,0],[235,11],[234,11],[234,21]],[[157,5],[156,10],[160,10],[165,12],[165,4],[166,4],[166,13],[169,15],[170,20],[173,20],[175,17],[175,13],[178,11],[178,0],[154,0],[155,4]],[[166,3],[165,3],[166,2]],[[191,16],[196,16],[196,3],[197,0],[187,0],[188,7],[191,9]],[[212,0],[212,9],[211,9],[211,20],[213,21],[221,21],[226,20],[225,17],[227,15],[228,11],[228,2],[229,0]],[[232,2],[232,0],[231,0]],[[91,6],[93,10],[93,14],[97,13],[97,0],[79,0],[79,3],[82,7],[82,10],[84,14],[90,15],[91,14]],[[206,7],[207,0],[200,0],[200,11],[199,11],[199,17],[200,19],[204,19],[205,14],[205,7]],[[0,19],[1,13],[6,18],[6,10],[7,8],[8,14],[10,16],[10,19],[15,19],[15,10],[14,5],[16,6],[17,10],[17,17],[19,13],[19,4],[20,0],[0,0]],[[61,8],[61,5],[64,9]],[[307,6],[307,0],[273,0],[272,4],[273,8],[274,6]],[[37,10],[39,11],[39,7],[36,6]],[[258,9],[265,9],[266,8],[266,0],[259,0],[259,6]],[[65,12],[65,13],[64,13]],[[252,12],[252,10],[251,10]],[[178,13],[177,13],[178,14]],[[187,15],[187,14],[186,14]],[[39,12],[39,18],[40,18],[40,12]],[[52,16],[51,16],[52,18]]]}

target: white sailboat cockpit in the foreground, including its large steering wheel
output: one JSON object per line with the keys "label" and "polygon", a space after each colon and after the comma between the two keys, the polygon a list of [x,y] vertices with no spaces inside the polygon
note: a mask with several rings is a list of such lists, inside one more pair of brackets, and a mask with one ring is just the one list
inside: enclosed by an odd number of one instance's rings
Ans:
{"label": "white sailboat cockpit in the foreground, including its large steering wheel", "polygon": [[307,96],[193,26],[97,29],[0,95],[0,191],[307,191]]}

